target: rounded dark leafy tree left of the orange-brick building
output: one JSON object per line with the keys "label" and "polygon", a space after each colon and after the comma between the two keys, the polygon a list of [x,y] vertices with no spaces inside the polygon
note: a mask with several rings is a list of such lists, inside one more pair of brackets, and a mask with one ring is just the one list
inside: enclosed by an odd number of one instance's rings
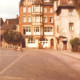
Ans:
{"label": "rounded dark leafy tree left of the orange-brick building", "polygon": [[4,41],[8,44],[20,45],[23,37],[20,32],[4,32]]}

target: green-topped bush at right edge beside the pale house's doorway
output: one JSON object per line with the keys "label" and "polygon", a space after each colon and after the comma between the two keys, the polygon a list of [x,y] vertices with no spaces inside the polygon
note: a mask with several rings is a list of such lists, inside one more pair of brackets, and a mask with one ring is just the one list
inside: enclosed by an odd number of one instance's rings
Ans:
{"label": "green-topped bush at right edge beside the pale house's doorway", "polygon": [[79,38],[71,39],[70,44],[72,46],[72,51],[77,52],[78,47],[80,46],[80,39]]}

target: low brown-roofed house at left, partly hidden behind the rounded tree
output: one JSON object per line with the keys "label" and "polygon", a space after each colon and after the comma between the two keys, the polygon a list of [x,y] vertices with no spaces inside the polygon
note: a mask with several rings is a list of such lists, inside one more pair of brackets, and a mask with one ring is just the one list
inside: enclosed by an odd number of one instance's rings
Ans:
{"label": "low brown-roofed house at left, partly hidden behind the rounded tree", "polygon": [[[1,27],[1,35],[3,36],[6,31],[18,31],[19,32],[19,18],[6,19],[5,23]],[[2,37],[2,48],[14,48],[12,44],[7,44]]]}

